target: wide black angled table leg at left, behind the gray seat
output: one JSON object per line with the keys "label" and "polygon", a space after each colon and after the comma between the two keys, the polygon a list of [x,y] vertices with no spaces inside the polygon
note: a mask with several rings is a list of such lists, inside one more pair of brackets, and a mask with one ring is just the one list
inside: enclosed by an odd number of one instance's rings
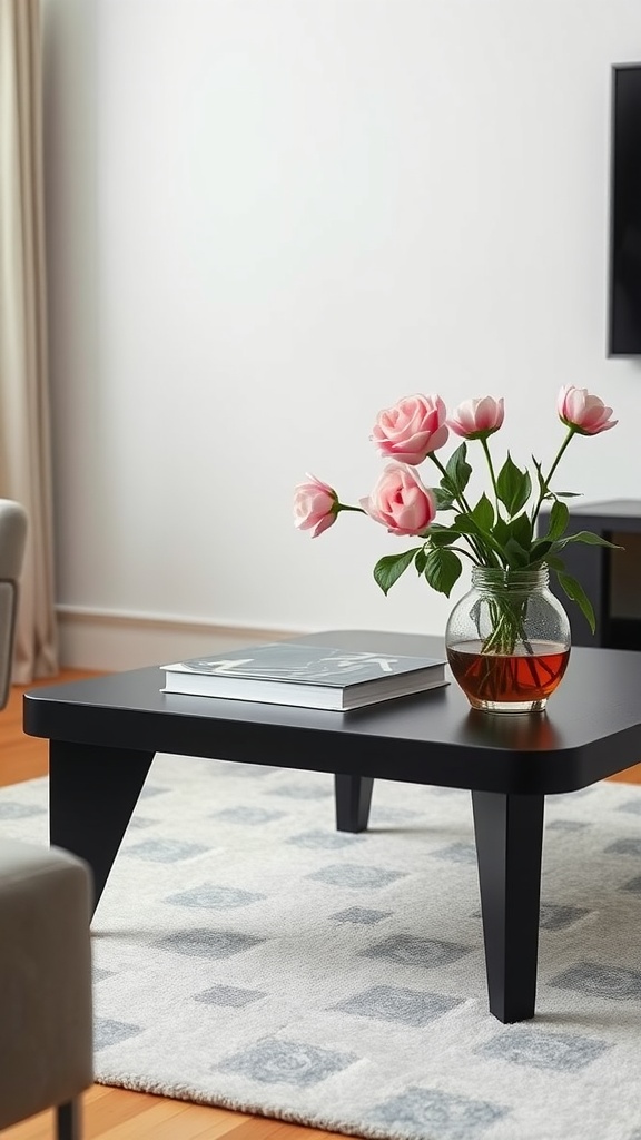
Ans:
{"label": "wide black angled table leg at left, behind the gray seat", "polygon": [[95,907],[153,758],[130,748],[50,741],[49,839],[89,863]]}

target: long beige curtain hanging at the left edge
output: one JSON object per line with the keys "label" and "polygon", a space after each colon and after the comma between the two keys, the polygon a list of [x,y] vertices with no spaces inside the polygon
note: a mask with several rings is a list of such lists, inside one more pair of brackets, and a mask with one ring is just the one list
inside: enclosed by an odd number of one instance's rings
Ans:
{"label": "long beige curtain hanging at the left edge", "polygon": [[0,496],[29,516],[21,683],[57,670],[44,269],[40,0],[0,0]]}

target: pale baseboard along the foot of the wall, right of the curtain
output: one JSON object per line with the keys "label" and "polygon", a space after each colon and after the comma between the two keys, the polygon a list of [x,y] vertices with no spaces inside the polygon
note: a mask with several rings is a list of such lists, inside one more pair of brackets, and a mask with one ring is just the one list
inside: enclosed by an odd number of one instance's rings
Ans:
{"label": "pale baseboard along the foot of the wall, right of the curtain", "polygon": [[197,618],[121,613],[58,605],[59,659],[63,668],[119,671],[167,665],[187,657],[284,641],[311,630],[219,626]]}

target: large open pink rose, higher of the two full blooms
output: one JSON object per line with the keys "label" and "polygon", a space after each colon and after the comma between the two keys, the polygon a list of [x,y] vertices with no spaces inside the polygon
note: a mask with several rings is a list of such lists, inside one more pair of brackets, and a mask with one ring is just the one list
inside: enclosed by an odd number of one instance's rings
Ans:
{"label": "large open pink rose, higher of the two full blooms", "polygon": [[406,396],[379,412],[370,438],[388,459],[415,467],[447,442],[446,415],[440,396]]}

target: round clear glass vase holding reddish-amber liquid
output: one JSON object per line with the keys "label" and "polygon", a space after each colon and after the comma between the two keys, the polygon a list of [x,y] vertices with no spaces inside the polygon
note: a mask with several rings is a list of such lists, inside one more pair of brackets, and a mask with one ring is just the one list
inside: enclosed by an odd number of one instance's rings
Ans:
{"label": "round clear glass vase holding reddish-amber liquid", "polygon": [[454,679],[472,708],[541,712],[570,654],[570,626],[547,587],[546,567],[474,567],[472,587],[454,606],[445,644]]}

